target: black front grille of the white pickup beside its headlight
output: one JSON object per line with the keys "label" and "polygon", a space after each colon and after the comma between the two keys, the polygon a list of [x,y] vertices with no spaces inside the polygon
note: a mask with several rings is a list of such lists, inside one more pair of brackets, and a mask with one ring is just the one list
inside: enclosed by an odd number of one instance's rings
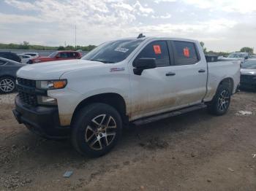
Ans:
{"label": "black front grille of the white pickup beside its headlight", "polygon": [[17,78],[18,96],[21,101],[30,105],[37,106],[37,95],[34,93],[36,81],[31,79]]}

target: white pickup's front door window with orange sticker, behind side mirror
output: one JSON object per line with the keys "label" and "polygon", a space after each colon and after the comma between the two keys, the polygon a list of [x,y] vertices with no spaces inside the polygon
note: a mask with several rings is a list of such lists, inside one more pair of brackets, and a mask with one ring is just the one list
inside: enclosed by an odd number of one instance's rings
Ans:
{"label": "white pickup's front door window with orange sticker, behind side mirror", "polygon": [[140,58],[155,58],[157,67],[170,66],[170,55],[167,42],[154,41],[146,45],[135,61]]}

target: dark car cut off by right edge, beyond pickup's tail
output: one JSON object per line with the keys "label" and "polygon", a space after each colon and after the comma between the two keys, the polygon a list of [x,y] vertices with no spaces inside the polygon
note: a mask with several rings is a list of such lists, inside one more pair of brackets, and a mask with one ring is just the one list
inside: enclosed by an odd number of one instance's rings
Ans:
{"label": "dark car cut off by right edge, beyond pickup's tail", "polygon": [[248,59],[241,65],[240,87],[256,90],[256,59]]}

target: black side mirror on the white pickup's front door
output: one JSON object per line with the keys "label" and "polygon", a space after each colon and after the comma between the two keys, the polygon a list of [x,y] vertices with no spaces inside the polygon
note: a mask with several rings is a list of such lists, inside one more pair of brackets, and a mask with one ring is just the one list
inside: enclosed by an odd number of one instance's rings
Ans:
{"label": "black side mirror on the white pickup's front door", "polygon": [[155,58],[140,58],[133,61],[132,66],[135,67],[133,69],[134,74],[141,75],[143,70],[154,69],[157,67],[157,64]]}

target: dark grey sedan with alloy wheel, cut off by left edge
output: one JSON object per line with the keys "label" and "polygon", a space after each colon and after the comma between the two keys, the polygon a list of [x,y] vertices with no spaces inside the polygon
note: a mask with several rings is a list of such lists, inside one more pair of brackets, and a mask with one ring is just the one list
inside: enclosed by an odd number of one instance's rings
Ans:
{"label": "dark grey sedan with alloy wheel, cut off by left edge", "polygon": [[16,89],[16,72],[23,63],[0,58],[0,93],[12,93]]}

